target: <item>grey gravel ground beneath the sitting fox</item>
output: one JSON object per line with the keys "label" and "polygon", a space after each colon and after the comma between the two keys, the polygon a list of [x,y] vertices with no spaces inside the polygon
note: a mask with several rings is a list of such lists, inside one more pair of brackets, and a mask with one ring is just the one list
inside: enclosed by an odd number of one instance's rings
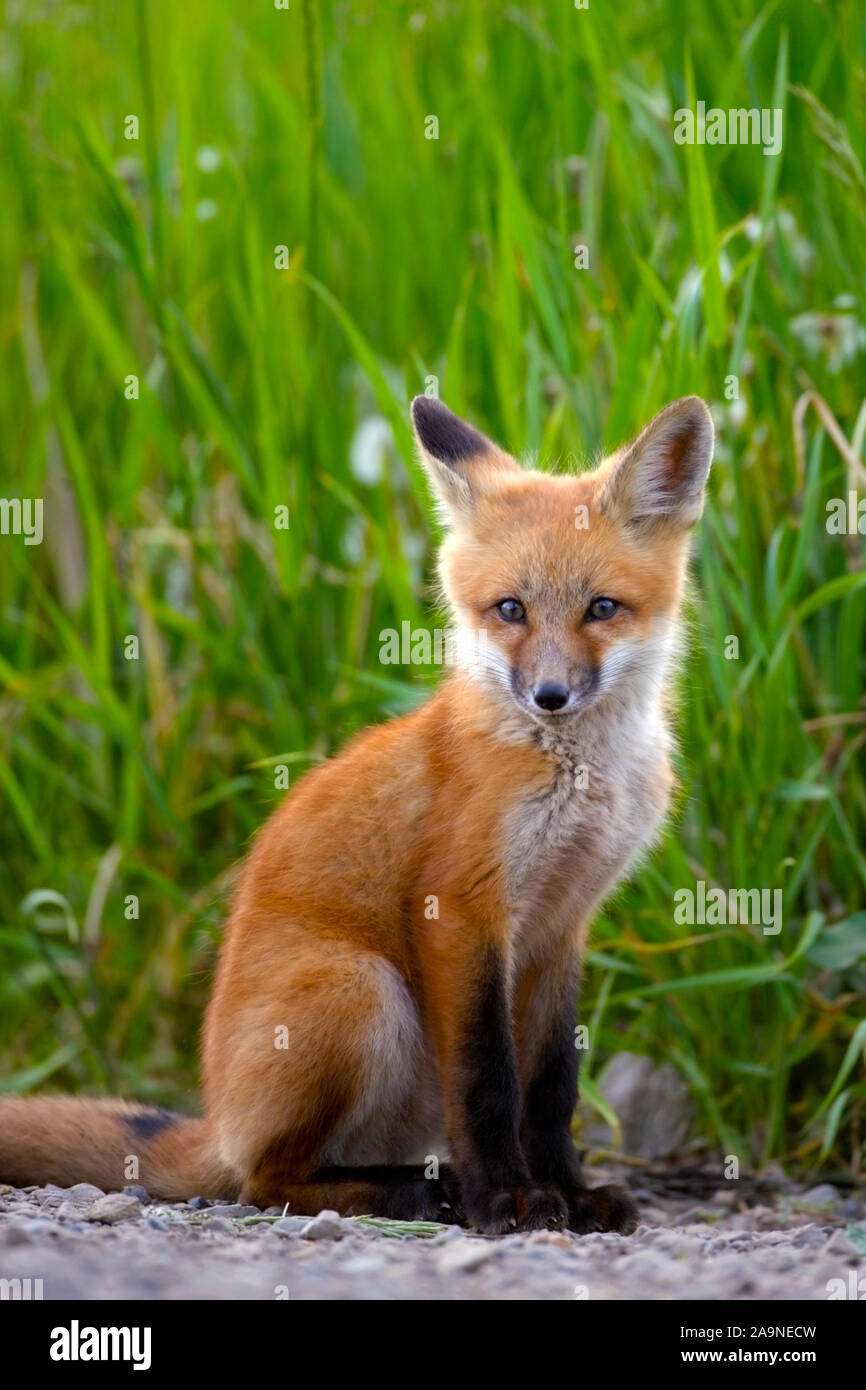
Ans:
{"label": "grey gravel ground beneath the sitting fox", "polygon": [[785,1184],[746,1201],[737,1188],[696,1201],[657,1180],[632,1186],[642,1223],[628,1237],[488,1238],[202,1198],[152,1202],[140,1188],[0,1187],[0,1280],[42,1279],[44,1298],[826,1300],[833,1289],[852,1297],[859,1280],[866,1295],[862,1193]]}

